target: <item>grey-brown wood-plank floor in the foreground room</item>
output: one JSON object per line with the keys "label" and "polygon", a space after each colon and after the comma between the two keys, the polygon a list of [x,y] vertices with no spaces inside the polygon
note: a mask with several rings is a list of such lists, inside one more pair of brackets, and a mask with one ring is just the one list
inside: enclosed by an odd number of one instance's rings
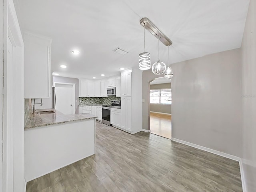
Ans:
{"label": "grey-brown wood-plank floor in the foreground room", "polygon": [[96,154],[26,192],[242,192],[239,164],[169,139],[96,123]]}

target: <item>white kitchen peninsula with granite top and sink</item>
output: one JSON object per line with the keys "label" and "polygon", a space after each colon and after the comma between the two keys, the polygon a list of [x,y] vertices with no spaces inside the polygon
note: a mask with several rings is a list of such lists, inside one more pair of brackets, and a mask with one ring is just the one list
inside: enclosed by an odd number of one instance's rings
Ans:
{"label": "white kitchen peninsula with granite top and sink", "polygon": [[95,154],[92,114],[30,115],[25,125],[26,182]]}

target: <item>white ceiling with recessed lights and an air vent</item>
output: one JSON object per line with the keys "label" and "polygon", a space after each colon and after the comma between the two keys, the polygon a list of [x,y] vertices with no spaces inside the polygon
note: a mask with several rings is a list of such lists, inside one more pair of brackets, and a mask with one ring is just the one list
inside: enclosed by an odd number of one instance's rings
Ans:
{"label": "white ceiling with recessed lights and an air vent", "polygon": [[[148,17],[170,40],[170,64],[240,48],[249,0],[14,0],[22,30],[52,38],[52,71],[60,76],[102,78],[138,68]],[[158,40],[146,31],[151,64]],[[129,53],[113,52],[120,47]],[[79,50],[74,55],[72,50]],[[160,60],[168,47],[160,42]],[[60,68],[61,64],[67,66]]]}

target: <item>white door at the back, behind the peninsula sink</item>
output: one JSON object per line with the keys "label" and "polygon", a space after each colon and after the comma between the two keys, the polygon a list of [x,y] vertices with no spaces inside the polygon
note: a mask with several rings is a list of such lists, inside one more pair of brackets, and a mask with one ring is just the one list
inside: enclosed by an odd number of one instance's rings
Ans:
{"label": "white door at the back, behind the peninsula sink", "polygon": [[74,88],[73,84],[55,83],[56,105],[55,109],[63,114],[74,114]]}

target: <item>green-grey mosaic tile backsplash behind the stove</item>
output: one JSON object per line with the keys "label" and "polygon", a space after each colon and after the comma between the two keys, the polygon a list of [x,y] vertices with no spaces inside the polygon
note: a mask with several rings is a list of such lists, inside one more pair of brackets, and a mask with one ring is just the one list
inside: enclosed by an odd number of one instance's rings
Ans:
{"label": "green-grey mosaic tile backsplash behind the stove", "polygon": [[110,105],[112,100],[121,100],[120,97],[108,96],[108,97],[80,97],[79,104],[107,104]]}

